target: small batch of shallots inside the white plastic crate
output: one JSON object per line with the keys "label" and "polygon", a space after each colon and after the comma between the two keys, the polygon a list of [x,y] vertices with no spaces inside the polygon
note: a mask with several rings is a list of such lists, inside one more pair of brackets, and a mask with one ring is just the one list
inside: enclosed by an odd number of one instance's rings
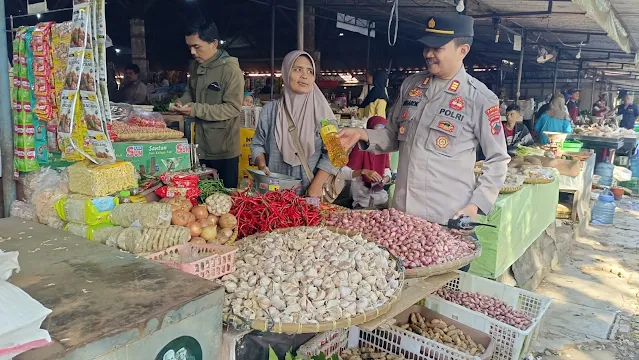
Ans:
{"label": "small batch of shallots inside the white plastic crate", "polygon": [[532,323],[530,316],[492,296],[449,288],[439,289],[435,292],[435,295],[446,301],[486,314],[495,320],[520,330],[528,329]]}

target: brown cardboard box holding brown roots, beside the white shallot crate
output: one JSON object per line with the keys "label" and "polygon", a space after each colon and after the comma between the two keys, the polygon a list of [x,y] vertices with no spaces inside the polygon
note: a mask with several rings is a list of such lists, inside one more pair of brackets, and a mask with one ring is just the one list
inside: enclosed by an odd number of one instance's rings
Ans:
{"label": "brown cardboard box holding brown roots, beside the white shallot crate", "polygon": [[[495,351],[495,341],[490,337],[490,335],[481,332],[479,330],[475,330],[473,328],[471,328],[470,326],[464,325],[462,323],[460,323],[459,321],[455,321],[449,317],[446,317],[442,314],[439,314],[433,310],[430,310],[429,308],[423,307],[423,306],[419,306],[419,305],[413,305],[411,307],[409,307],[408,309],[406,309],[404,312],[402,312],[401,314],[395,316],[395,326],[399,327],[401,325],[407,324],[409,322],[409,317],[410,314],[412,313],[419,313],[421,314],[426,320],[430,321],[433,319],[439,319],[444,321],[446,324],[448,325],[455,325],[455,327],[459,330],[461,330],[464,334],[470,336],[474,342],[481,344],[484,349],[486,349],[486,351],[481,354],[481,355],[475,355],[478,356],[480,359],[482,360],[487,360],[490,359],[491,356],[493,355],[493,352]],[[402,331],[407,331],[411,334],[414,334],[415,336],[418,336],[420,338],[422,338],[421,335],[419,334],[415,334],[412,331],[409,330],[403,330]],[[426,338],[424,338],[426,339]],[[443,344],[440,344],[441,346],[445,346]],[[470,355],[468,355],[470,356]]]}

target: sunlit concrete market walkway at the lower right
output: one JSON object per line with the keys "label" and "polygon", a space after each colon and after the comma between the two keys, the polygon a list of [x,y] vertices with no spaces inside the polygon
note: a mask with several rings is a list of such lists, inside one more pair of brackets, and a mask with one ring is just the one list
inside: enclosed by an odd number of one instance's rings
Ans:
{"label": "sunlit concrete market walkway at the lower right", "polygon": [[639,199],[617,204],[614,226],[588,227],[536,290],[553,304],[535,359],[639,360]]}

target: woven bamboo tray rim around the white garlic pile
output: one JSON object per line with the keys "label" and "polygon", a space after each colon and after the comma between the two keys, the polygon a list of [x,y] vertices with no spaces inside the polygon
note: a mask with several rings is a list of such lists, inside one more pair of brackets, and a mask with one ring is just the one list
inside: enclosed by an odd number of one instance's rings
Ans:
{"label": "woven bamboo tray rim around the white garlic pile", "polygon": [[[304,226],[300,226],[300,227],[303,228]],[[320,227],[320,226],[311,226],[311,227]],[[326,226],[324,228],[330,231],[336,232],[338,234],[347,235],[347,236],[360,235],[359,233],[356,233],[354,231],[348,231],[348,230],[339,229],[339,228],[330,227],[330,226]],[[277,229],[277,230],[271,231],[270,233],[273,233],[273,232],[286,233],[294,229],[297,229],[297,228]],[[244,239],[242,239],[242,242],[253,241],[265,234],[268,234],[268,233],[259,233],[259,234],[253,234],[253,235],[247,236]],[[324,331],[336,330],[336,329],[347,329],[352,326],[360,325],[365,322],[374,320],[378,318],[379,316],[384,315],[390,310],[393,304],[399,299],[399,296],[401,295],[401,292],[402,292],[402,288],[404,287],[404,271],[405,270],[404,270],[404,267],[402,266],[402,262],[393,254],[390,254],[390,256],[394,258],[394,260],[396,260],[397,262],[397,267],[399,270],[399,286],[397,287],[397,290],[395,291],[395,293],[390,297],[390,299],[386,303],[384,303],[383,305],[373,310],[369,310],[363,314],[359,314],[357,316],[350,317],[350,318],[339,319],[336,321],[324,321],[317,324],[282,323],[282,322],[273,322],[270,320],[269,321],[248,320],[248,319],[244,319],[242,317],[239,317],[237,315],[232,315],[232,314],[224,314],[223,319],[227,323],[233,323],[236,328],[244,327],[244,328],[252,328],[255,330],[265,331],[265,332],[287,333],[287,334],[306,334],[306,333],[318,333],[318,332],[324,332]]]}

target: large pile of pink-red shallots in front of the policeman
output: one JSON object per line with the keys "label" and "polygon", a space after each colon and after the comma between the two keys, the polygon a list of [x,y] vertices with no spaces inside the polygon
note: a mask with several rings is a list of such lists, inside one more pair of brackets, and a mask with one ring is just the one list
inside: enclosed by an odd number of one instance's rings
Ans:
{"label": "large pile of pink-red shallots in front of the policeman", "polygon": [[476,247],[439,224],[396,209],[331,213],[326,225],[362,233],[387,247],[408,269],[445,264],[472,254]]}

